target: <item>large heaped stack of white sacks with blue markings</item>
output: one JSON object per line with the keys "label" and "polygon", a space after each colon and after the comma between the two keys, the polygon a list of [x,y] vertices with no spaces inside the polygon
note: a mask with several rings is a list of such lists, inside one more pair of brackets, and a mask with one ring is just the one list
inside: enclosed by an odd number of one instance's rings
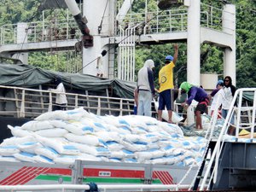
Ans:
{"label": "large heaped stack of white sacks with blue markings", "polygon": [[72,165],[75,160],[189,166],[199,164],[203,137],[183,137],[177,125],[138,116],[97,116],[83,108],[43,113],[0,145],[0,161]]}

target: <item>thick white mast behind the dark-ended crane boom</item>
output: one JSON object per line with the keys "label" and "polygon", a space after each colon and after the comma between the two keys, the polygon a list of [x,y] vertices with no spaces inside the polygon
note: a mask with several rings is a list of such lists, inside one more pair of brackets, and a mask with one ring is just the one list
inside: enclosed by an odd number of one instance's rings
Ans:
{"label": "thick white mast behind the dark-ended crane boom", "polygon": [[[103,16],[106,4],[107,4],[107,8],[106,8],[105,15],[103,17],[103,22],[102,22],[102,16]],[[109,3],[108,0],[93,0],[93,1],[84,0],[83,13],[88,20],[87,26],[90,29],[90,35],[92,35],[94,38],[93,47],[83,49],[83,67],[84,67],[83,73],[84,74],[96,75],[97,73],[96,58],[98,55],[102,53],[102,49],[105,49],[104,44],[102,44],[102,35],[107,36],[109,35],[110,32],[113,32],[113,29],[111,28],[113,27],[113,25],[109,25],[109,15],[110,15],[109,5],[110,4],[111,3]],[[98,34],[98,26],[101,25],[101,22],[102,22],[102,32]],[[103,57],[102,62],[103,62],[104,77],[108,78],[108,54]]]}

